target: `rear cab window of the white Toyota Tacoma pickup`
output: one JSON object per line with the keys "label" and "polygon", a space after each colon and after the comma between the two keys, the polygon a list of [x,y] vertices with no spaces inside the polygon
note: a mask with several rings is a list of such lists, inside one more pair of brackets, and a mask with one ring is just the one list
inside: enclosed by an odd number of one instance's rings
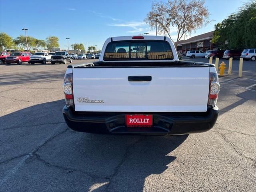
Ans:
{"label": "rear cab window of the white Toyota Tacoma pickup", "polygon": [[172,60],[171,46],[166,41],[110,42],[104,60]]}

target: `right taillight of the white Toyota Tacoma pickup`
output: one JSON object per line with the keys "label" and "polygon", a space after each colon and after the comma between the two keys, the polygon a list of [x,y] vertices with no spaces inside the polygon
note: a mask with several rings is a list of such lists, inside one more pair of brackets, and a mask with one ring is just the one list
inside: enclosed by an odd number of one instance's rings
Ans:
{"label": "right taillight of the white Toyota Tacoma pickup", "polygon": [[210,90],[208,105],[216,105],[218,100],[218,93],[220,92],[220,84],[217,73],[210,73]]}

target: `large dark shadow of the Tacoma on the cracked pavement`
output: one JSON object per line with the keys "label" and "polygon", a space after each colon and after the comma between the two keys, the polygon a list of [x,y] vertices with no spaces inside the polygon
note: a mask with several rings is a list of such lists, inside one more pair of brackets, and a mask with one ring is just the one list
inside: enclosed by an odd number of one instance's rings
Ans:
{"label": "large dark shadow of the Tacoma on the cracked pavement", "polygon": [[145,180],[160,182],[154,174],[171,166],[178,157],[170,153],[188,137],[75,132],[64,122],[63,106],[58,100],[0,117],[2,190],[150,190]]}

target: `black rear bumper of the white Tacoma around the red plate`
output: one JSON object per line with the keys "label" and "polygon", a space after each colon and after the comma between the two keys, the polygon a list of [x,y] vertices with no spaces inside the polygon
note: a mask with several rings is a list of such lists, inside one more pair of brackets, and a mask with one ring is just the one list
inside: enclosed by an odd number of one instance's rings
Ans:
{"label": "black rear bumper of the white Tacoma around the red plate", "polygon": [[217,106],[208,108],[207,112],[148,112],[147,114],[153,114],[152,128],[127,128],[125,115],[132,114],[132,112],[75,112],[68,106],[64,106],[62,112],[68,126],[78,132],[146,135],[182,135],[206,132],[214,126],[219,113]]}

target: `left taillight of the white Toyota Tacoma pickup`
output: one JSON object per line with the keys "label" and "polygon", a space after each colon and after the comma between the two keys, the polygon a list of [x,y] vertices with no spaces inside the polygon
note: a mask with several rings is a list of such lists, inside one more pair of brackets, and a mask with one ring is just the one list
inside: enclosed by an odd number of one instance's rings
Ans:
{"label": "left taillight of the white Toyota Tacoma pickup", "polygon": [[67,105],[74,105],[73,88],[72,88],[72,73],[68,73],[64,77],[63,91]]}

